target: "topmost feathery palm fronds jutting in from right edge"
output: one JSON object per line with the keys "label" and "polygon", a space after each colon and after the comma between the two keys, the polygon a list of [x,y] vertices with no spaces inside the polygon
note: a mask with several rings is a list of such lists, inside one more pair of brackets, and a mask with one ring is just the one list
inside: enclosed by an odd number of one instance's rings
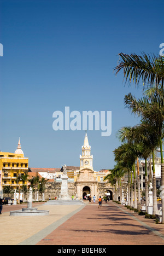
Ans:
{"label": "topmost feathery palm fronds jutting in from right edge", "polygon": [[125,82],[129,84],[132,82],[138,86],[140,80],[142,80],[143,86],[149,84],[158,87],[161,84],[163,90],[164,58],[162,56],[145,53],[142,53],[142,55],[120,53],[119,56],[121,60],[119,60],[119,64],[114,70],[118,74],[123,69]]}

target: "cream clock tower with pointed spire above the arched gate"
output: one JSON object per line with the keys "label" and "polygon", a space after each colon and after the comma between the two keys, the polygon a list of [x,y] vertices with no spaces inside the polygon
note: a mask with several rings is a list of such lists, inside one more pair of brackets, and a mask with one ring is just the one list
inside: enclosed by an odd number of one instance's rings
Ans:
{"label": "cream clock tower with pointed spire above the arched gate", "polygon": [[80,155],[80,171],[84,168],[93,171],[93,155],[91,155],[91,146],[89,146],[87,131],[85,133],[84,145],[82,146],[82,155]]}

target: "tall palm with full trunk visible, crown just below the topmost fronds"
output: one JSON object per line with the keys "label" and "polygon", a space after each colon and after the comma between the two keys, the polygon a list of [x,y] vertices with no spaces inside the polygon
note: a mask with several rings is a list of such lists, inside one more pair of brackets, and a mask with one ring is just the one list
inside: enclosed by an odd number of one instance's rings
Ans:
{"label": "tall palm with full trunk visible, crown just below the topmost fronds", "polygon": [[144,140],[143,142],[151,149],[153,155],[153,198],[154,214],[157,212],[157,202],[156,202],[156,178],[155,178],[155,166],[154,166],[154,150],[161,145],[163,136],[163,116],[161,115],[161,110],[156,103],[149,102],[148,98],[140,98],[136,100],[131,94],[125,96],[125,104],[131,109],[132,113],[138,114],[142,117],[141,126],[141,136]]}

